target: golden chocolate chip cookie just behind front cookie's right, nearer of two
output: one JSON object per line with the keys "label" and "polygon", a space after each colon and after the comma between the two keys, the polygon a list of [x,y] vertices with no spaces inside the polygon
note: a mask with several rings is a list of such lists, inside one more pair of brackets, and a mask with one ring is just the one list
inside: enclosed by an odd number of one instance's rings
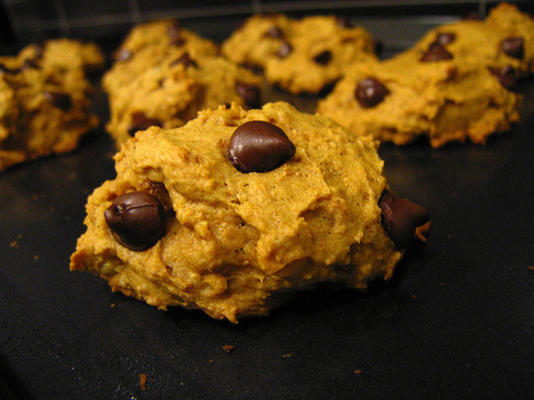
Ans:
{"label": "golden chocolate chip cookie just behind front cookie's right, nearer of two", "polygon": [[484,144],[519,119],[522,97],[512,76],[456,60],[443,46],[420,56],[408,51],[384,62],[358,64],[319,102],[317,112],[355,135],[403,145],[428,137]]}

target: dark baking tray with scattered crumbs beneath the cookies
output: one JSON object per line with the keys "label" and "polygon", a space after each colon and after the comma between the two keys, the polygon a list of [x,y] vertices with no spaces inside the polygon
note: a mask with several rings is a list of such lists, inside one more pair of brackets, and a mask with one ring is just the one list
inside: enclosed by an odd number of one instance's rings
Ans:
{"label": "dark baking tray with scattered crumbs beneath the cookies", "polygon": [[68,271],[87,195],[114,177],[103,129],[2,173],[0,398],[532,398],[534,84],[521,91],[520,122],[486,146],[381,147],[433,223],[390,282],[320,287],[237,326]]}

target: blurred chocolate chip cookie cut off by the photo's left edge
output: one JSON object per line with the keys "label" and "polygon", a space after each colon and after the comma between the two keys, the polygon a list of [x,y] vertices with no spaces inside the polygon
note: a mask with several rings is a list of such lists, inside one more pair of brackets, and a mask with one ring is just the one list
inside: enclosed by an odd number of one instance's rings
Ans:
{"label": "blurred chocolate chip cookie cut off by the photo's left edge", "polygon": [[86,67],[100,65],[93,46],[50,40],[0,58],[0,170],[71,151],[98,126],[91,112],[94,89],[85,76]]}

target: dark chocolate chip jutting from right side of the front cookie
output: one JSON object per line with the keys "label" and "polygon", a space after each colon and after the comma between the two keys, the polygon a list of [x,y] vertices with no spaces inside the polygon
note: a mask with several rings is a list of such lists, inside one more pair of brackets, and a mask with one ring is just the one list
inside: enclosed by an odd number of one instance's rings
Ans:
{"label": "dark chocolate chip jutting from right side of the front cookie", "polygon": [[390,190],[384,190],[378,205],[382,209],[382,223],[397,249],[407,248],[415,238],[415,228],[430,219],[426,209]]}

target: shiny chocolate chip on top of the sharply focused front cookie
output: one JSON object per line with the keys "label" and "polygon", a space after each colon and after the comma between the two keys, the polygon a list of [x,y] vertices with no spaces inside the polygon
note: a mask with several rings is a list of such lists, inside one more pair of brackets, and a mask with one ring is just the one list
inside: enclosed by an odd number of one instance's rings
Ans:
{"label": "shiny chocolate chip on top of the sharply focused front cookie", "polygon": [[295,154],[295,146],[282,129],[265,121],[239,126],[230,139],[228,159],[241,172],[268,172]]}

